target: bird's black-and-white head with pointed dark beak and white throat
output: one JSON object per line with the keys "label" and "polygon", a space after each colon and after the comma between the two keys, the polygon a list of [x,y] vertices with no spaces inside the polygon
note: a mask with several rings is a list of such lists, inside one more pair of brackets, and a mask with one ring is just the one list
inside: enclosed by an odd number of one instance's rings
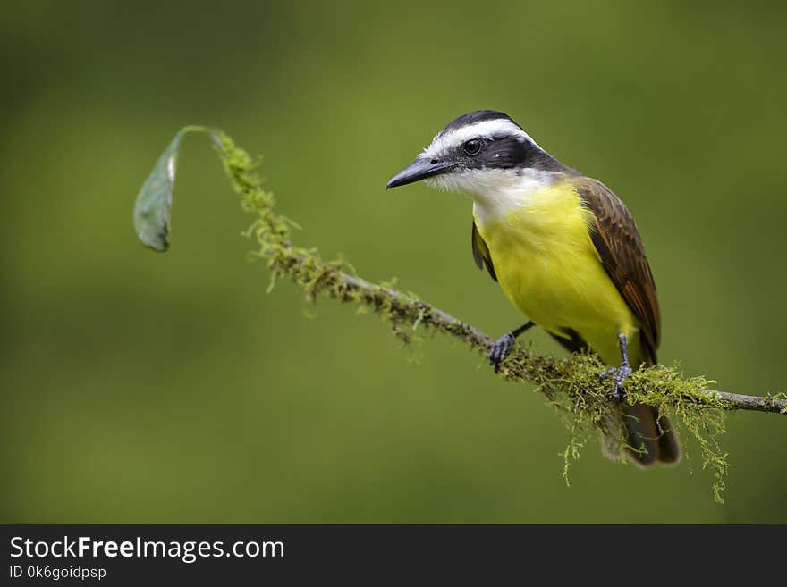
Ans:
{"label": "bird's black-and-white head with pointed dark beak and white throat", "polygon": [[523,174],[560,171],[558,166],[563,167],[507,114],[478,110],[449,122],[386,189],[427,180],[437,188],[484,196]]}

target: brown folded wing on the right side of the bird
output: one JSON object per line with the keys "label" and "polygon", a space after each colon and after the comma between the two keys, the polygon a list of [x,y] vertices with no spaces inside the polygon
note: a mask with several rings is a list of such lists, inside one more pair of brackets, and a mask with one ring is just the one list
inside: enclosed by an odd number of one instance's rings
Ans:
{"label": "brown folded wing on the right side of the bird", "polygon": [[661,338],[661,315],[656,284],[634,219],[621,199],[603,183],[590,178],[575,180],[577,192],[596,217],[591,231],[606,273],[637,316],[642,340],[656,363],[656,348]]}

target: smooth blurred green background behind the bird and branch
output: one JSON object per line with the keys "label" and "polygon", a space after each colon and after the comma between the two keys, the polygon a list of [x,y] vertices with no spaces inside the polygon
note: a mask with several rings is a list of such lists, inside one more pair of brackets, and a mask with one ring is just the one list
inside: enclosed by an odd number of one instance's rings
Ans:
{"label": "smooth blurred green background behind the bird and branch", "polygon": [[[385,192],[454,116],[510,113],[629,205],[661,358],[724,390],[783,372],[784,5],[8,2],[0,13],[3,522],[787,522],[787,421],[733,414],[727,504],[641,472],[442,337],[265,294],[250,222],[187,138],[173,247],[133,198],[187,123],[264,156],[303,245],[499,334],[470,202]],[[560,353],[541,333],[545,353]],[[690,466],[693,474],[690,473]]]}

